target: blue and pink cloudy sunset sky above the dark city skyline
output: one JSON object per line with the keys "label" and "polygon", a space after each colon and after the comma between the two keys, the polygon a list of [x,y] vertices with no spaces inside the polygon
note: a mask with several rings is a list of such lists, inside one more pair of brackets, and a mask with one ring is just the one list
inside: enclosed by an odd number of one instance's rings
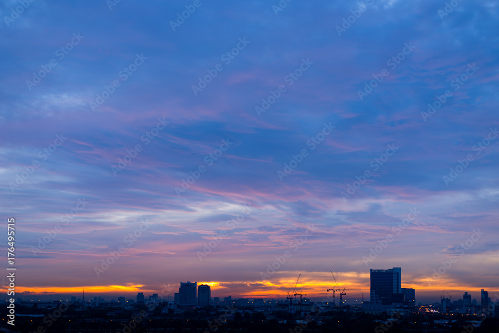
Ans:
{"label": "blue and pink cloudy sunset sky above the dark city skyline", "polygon": [[498,9],[0,1],[16,295],[494,299]]}

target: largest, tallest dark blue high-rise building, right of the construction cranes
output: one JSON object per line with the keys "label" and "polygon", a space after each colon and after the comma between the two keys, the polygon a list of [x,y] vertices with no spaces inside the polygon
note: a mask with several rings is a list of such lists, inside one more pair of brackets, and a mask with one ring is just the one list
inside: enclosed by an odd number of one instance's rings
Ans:
{"label": "largest, tallest dark blue high-rise building, right of the construction cranes", "polygon": [[402,269],[371,269],[370,302],[392,304],[404,302],[402,294]]}

